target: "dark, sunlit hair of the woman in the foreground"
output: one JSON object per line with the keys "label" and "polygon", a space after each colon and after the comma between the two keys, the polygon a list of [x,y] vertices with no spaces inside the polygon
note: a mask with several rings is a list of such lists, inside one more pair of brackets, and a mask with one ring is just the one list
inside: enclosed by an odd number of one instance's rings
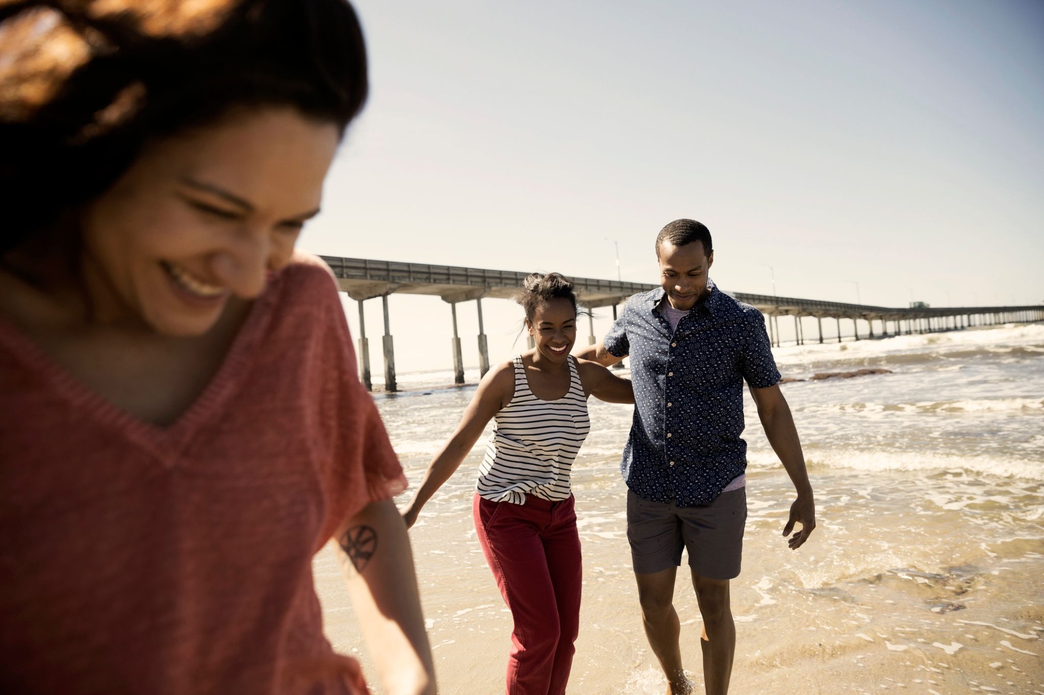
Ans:
{"label": "dark, sunlit hair of the woman in the foreground", "polygon": [[346,0],[0,3],[0,254],[104,193],[149,141],[236,107],[341,134],[367,93]]}

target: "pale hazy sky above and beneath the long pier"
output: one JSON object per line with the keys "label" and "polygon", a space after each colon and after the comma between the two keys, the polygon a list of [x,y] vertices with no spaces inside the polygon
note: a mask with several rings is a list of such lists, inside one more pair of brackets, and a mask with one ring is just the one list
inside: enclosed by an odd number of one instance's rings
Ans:
{"label": "pale hazy sky above and beneath the long pier", "polygon": [[[614,277],[611,238],[655,282],[657,231],[689,217],[726,290],[769,294],[772,266],[783,296],[1044,300],[1037,0],[355,6],[371,97],[310,251]],[[399,370],[448,367],[449,305],[390,305]],[[483,306],[507,358],[520,313]]]}

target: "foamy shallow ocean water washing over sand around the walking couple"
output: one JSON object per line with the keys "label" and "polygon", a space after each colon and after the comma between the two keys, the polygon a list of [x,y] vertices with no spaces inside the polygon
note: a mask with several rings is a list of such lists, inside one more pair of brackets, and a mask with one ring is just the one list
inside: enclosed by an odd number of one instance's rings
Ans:
{"label": "foamy shallow ocean water washing over sand around the walking couple", "polygon": [[[793,378],[891,373],[783,384],[817,504],[817,528],[797,551],[781,536],[793,489],[746,396],[749,519],[732,581],[731,692],[1044,693],[1044,325],[775,355]],[[435,388],[448,373],[400,380],[416,390],[376,400],[416,486],[474,389]],[[632,406],[592,400],[590,411],[573,469],[585,594],[569,692],[662,693],[624,528],[619,452]],[[411,531],[444,693],[503,691],[511,617],[471,521],[482,444]],[[329,547],[315,573],[331,641],[372,676]],[[701,618],[684,567],[675,606],[686,668],[702,684]]]}

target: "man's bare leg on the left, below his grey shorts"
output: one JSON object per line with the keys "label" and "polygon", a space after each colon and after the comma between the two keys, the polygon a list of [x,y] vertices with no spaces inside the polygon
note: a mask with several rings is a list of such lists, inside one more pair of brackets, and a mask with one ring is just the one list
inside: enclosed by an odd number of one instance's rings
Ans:
{"label": "man's bare leg on the left, below his grey shorts", "polygon": [[651,574],[635,572],[635,579],[638,581],[638,600],[642,605],[645,637],[667,676],[670,692],[684,695],[690,691],[685,669],[682,668],[682,649],[678,644],[682,625],[673,604],[677,572],[677,567],[668,567]]}

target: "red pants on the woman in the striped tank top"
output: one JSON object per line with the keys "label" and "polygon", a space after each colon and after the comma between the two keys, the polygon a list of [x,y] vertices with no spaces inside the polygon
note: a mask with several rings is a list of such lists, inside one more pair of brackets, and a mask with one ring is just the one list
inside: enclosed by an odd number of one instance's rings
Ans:
{"label": "red pants on the woman in the striped tank top", "polygon": [[507,695],[563,695],[580,618],[580,539],[573,497],[525,504],[475,495],[478,542],[515,619]]}

